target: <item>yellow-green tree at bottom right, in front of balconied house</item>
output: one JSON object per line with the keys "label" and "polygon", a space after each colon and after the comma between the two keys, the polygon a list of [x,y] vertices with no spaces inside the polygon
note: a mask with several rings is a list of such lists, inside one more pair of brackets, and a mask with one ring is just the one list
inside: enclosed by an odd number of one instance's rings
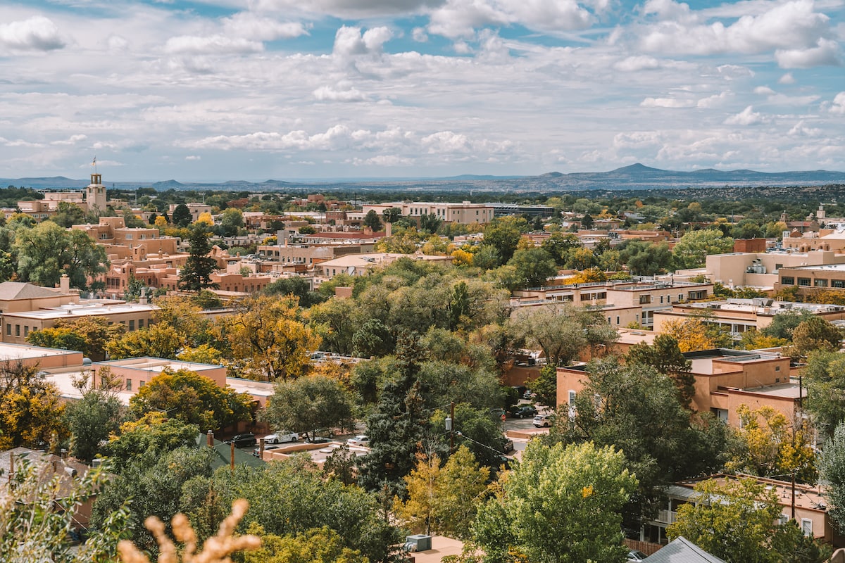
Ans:
{"label": "yellow-green tree at bottom right, in front of balconied house", "polygon": [[[677,520],[666,528],[669,539],[689,539],[728,563],[821,563],[826,556],[796,559],[796,543],[804,543],[787,526],[778,526],[781,507],[777,492],[755,479],[710,479],[695,485],[695,503],[678,508]],[[789,540],[792,541],[789,541]],[[829,555],[819,553],[818,555]]]}

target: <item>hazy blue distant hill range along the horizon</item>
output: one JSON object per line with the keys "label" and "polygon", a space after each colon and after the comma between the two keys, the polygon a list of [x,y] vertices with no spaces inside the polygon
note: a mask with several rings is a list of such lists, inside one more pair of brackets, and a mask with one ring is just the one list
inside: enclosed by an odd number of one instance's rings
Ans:
{"label": "hazy blue distant hill range along the horizon", "polygon": [[[0,178],[0,185],[33,187],[37,189],[68,189],[85,187],[88,181],[64,176],[52,178]],[[106,182],[106,187],[132,190],[153,187],[166,190],[229,190],[243,192],[277,191],[333,191],[333,190],[410,190],[410,191],[472,191],[472,192],[581,192],[587,190],[662,190],[684,187],[786,187],[845,185],[845,172],[792,171],[757,172],[750,170],[705,170],[681,172],[665,171],[635,164],[609,172],[548,172],[540,176],[452,176],[447,178],[419,178],[393,180],[344,181],[225,181],[219,183],[180,182],[176,180],[149,182]]]}

